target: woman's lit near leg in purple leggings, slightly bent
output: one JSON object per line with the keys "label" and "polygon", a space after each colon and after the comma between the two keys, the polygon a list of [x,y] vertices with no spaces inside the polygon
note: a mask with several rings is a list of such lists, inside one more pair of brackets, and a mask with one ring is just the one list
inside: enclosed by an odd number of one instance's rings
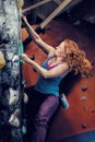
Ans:
{"label": "woman's lit near leg in purple leggings, slightly bent", "polygon": [[31,142],[45,142],[47,123],[59,106],[59,97],[48,96],[40,105],[35,118],[35,131]]}

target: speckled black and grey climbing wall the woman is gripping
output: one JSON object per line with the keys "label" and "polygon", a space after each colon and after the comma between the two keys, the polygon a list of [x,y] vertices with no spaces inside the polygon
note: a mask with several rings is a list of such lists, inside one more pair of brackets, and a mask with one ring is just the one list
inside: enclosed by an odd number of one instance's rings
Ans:
{"label": "speckled black and grey climbing wall the woman is gripping", "polygon": [[0,0],[0,142],[22,142],[16,0]]}

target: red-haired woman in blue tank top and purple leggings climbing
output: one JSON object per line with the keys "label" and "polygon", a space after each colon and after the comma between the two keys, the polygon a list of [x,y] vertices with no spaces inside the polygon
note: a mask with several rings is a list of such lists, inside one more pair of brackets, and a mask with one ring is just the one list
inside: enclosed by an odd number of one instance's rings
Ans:
{"label": "red-haired woman in blue tank top and purple leggings climbing", "polygon": [[34,43],[48,55],[41,66],[25,54],[22,55],[22,59],[33,66],[40,75],[35,84],[32,94],[32,107],[29,108],[31,120],[33,119],[32,122],[35,128],[32,126],[31,142],[45,142],[47,123],[59,106],[60,81],[71,71],[74,71],[75,74],[80,73],[82,78],[91,78],[93,67],[75,42],[66,39],[54,48],[35,33],[25,16],[23,16],[23,23]]}

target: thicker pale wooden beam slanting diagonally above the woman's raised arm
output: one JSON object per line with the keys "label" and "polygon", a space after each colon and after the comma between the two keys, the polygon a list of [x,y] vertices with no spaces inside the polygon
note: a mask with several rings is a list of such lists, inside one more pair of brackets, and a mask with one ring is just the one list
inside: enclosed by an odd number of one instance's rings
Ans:
{"label": "thicker pale wooden beam slanting diagonally above the woman's raised arm", "polygon": [[61,12],[72,0],[64,0],[61,4],[40,24],[40,28],[44,28],[58,13]]}

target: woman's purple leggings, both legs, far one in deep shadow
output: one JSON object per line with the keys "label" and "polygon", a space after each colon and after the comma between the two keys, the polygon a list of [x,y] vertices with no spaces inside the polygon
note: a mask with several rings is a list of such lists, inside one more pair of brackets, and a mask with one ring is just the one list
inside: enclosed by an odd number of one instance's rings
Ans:
{"label": "woman's purple leggings, both legs, far one in deep shadow", "polygon": [[29,99],[31,142],[45,142],[47,123],[59,106],[59,97],[35,92]]}

